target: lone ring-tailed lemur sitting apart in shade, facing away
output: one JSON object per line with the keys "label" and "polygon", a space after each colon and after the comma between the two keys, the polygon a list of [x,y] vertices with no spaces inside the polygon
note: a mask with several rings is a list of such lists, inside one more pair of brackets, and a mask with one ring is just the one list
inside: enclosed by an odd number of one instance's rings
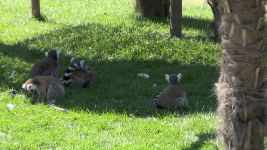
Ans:
{"label": "lone ring-tailed lemur sitting apart in shade, facing away", "polygon": [[184,89],[180,86],[179,80],[182,78],[182,74],[165,74],[166,80],[169,85],[156,95],[153,105],[158,109],[170,109],[173,110],[177,107],[188,106],[188,100]]}

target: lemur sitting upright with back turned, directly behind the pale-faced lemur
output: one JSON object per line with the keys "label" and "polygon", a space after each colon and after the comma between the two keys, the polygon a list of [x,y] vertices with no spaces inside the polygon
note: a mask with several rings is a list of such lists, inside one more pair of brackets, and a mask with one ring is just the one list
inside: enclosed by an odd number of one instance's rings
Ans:
{"label": "lemur sitting upright with back turned, directly behind the pale-faced lemur", "polygon": [[40,61],[36,62],[31,70],[31,78],[37,75],[42,76],[54,76],[58,78],[59,73],[59,54],[60,50],[50,50],[45,52],[46,58],[41,59]]}

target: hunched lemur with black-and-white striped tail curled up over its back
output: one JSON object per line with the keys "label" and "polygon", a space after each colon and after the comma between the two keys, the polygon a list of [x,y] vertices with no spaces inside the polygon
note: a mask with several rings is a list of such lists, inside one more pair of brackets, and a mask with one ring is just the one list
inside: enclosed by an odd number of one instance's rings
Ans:
{"label": "hunched lemur with black-and-white striped tail curled up over its back", "polygon": [[84,64],[84,60],[71,58],[71,65],[65,71],[64,76],[60,79],[64,85],[71,87],[92,86],[96,82],[95,71]]}

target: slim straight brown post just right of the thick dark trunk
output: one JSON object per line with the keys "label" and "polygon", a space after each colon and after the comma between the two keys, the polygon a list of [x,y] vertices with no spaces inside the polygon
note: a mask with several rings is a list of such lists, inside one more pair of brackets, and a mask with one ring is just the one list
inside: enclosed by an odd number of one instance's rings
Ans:
{"label": "slim straight brown post just right of the thick dark trunk", "polygon": [[182,0],[171,0],[170,33],[182,35]]}

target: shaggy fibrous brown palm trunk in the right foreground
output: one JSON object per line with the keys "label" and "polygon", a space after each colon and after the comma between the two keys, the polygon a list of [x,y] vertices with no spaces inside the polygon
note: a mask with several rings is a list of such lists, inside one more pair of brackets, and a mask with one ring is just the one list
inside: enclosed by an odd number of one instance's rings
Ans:
{"label": "shaggy fibrous brown palm trunk in the right foreground", "polygon": [[264,149],[266,0],[220,0],[220,77],[215,83],[218,135],[227,149]]}

